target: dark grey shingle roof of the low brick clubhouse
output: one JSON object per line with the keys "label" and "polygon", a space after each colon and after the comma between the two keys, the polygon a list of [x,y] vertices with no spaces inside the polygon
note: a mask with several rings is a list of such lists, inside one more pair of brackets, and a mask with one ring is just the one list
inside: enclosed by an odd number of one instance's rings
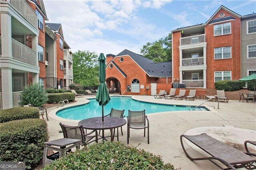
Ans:
{"label": "dark grey shingle roof of the low brick clubhouse", "polygon": [[152,77],[172,77],[172,62],[155,63],[151,59],[129,51],[128,49],[124,49],[124,51],[120,52],[116,57],[121,55],[130,55],[130,57]]}

